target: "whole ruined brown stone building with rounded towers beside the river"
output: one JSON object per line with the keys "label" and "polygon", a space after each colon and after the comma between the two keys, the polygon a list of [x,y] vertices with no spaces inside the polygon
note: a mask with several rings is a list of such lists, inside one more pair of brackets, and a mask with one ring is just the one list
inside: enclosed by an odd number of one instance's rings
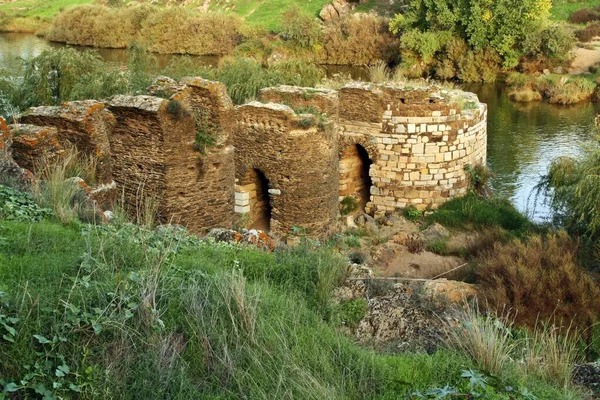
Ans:
{"label": "whole ruined brown stone building with rounded towers beside the river", "polygon": [[151,198],[160,222],[195,233],[237,222],[314,236],[332,230],[345,199],[375,216],[436,208],[467,192],[467,164],[486,161],[487,107],[470,93],[352,83],[279,86],[258,100],[234,107],[221,83],[159,78],[149,95],[0,120],[0,155],[35,172],[74,146],[132,212]]}

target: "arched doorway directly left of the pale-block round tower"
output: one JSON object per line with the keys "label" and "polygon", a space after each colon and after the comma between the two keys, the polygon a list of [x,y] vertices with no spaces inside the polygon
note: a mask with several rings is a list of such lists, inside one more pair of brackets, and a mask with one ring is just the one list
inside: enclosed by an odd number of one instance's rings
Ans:
{"label": "arched doorway directly left of the pale-block round tower", "polygon": [[348,147],[340,157],[340,200],[353,197],[361,211],[371,199],[371,176],[369,153],[360,144]]}

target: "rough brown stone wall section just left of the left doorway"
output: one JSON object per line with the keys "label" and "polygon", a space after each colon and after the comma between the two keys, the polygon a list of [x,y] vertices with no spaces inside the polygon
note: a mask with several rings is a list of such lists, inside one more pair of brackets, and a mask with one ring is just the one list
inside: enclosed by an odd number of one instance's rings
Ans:
{"label": "rough brown stone wall section just left of the left doorway", "polygon": [[[195,147],[195,122],[173,100],[115,96],[111,135],[115,181],[133,210],[143,199],[158,205],[159,220],[202,233],[233,220],[233,149],[202,155]],[[219,211],[223,210],[223,213]]]}

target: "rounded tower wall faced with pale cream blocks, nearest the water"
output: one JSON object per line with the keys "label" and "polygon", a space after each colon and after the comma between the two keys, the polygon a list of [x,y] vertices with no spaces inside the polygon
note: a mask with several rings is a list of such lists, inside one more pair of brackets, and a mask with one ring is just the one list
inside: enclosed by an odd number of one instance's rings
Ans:
{"label": "rounded tower wall faced with pale cream blocks, nearest the water", "polygon": [[373,186],[367,211],[409,205],[435,208],[465,194],[467,164],[485,163],[487,107],[461,93],[352,84],[340,90],[340,151],[354,143],[368,151]]}

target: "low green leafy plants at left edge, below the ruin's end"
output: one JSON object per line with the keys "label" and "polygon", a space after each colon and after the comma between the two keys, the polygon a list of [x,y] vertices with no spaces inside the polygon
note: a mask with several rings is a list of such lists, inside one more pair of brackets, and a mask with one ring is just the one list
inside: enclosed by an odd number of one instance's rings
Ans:
{"label": "low green leafy plants at left edge, below the ruin's end", "polygon": [[0,185],[0,219],[37,222],[52,215],[38,206],[29,193]]}

